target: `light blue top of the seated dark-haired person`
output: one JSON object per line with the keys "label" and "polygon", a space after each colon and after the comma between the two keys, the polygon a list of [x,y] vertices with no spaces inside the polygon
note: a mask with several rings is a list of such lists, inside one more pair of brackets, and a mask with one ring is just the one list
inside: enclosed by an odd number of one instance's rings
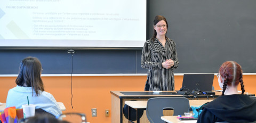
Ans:
{"label": "light blue top of the seated dark-haired person", "polygon": [[6,108],[15,106],[17,109],[22,109],[23,104],[28,104],[28,96],[29,104],[35,104],[36,109],[42,109],[53,114],[54,116],[62,114],[60,106],[52,94],[45,91],[39,91],[38,96],[36,96],[34,89],[33,91],[34,96],[32,96],[32,87],[22,87],[17,85],[16,87],[10,89],[6,99]]}

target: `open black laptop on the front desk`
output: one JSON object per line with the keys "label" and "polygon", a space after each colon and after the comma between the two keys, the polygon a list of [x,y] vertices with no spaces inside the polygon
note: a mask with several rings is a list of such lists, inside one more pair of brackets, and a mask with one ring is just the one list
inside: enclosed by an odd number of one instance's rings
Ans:
{"label": "open black laptop on the front desk", "polygon": [[184,74],[182,87],[177,93],[183,95],[196,89],[207,95],[214,95],[215,93],[212,92],[213,78],[214,73]]}

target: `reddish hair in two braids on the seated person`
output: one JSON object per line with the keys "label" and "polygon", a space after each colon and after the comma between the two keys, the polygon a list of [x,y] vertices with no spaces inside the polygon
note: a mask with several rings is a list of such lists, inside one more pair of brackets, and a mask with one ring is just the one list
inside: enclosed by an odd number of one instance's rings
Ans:
{"label": "reddish hair in two braids on the seated person", "polygon": [[237,86],[239,83],[241,84],[242,94],[244,94],[245,89],[241,65],[234,61],[226,61],[221,65],[219,73],[223,79],[222,95],[224,95],[227,85]]}

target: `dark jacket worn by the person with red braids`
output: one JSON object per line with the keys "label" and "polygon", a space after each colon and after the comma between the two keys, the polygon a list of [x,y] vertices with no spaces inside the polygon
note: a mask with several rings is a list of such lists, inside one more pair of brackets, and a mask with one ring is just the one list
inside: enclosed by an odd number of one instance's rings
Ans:
{"label": "dark jacket worn by the person with red braids", "polygon": [[256,100],[248,95],[219,96],[203,107],[197,123],[256,121]]}

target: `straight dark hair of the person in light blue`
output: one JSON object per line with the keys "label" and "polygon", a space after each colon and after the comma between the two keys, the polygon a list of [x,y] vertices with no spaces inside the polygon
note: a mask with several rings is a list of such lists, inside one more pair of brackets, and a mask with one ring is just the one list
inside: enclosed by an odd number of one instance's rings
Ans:
{"label": "straight dark hair of the person in light blue", "polygon": [[40,91],[44,91],[44,84],[41,79],[42,72],[41,62],[34,57],[27,57],[20,62],[19,75],[16,78],[16,84],[18,86],[32,87],[36,96]]}

